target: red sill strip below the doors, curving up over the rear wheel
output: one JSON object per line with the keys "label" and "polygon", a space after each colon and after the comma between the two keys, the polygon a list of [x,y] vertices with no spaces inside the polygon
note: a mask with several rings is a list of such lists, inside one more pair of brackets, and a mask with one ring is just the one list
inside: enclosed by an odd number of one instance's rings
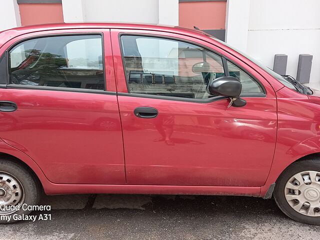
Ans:
{"label": "red sill strip below the doors, curving up over the rear wheel", "polygon": [[[233,186],[172,186],[129,184],[57,184],[49,181],[41,168],[27,154],[0,139],[2,157],[13,156],[33,170],[47,195],[74,193],[126,193],[126,194],[200,194],[200,195],[248,195],[258,196],[260,187]],[[4,155],[3,155],[4,153]],[[1,156],[0,156],[1,157]]]}

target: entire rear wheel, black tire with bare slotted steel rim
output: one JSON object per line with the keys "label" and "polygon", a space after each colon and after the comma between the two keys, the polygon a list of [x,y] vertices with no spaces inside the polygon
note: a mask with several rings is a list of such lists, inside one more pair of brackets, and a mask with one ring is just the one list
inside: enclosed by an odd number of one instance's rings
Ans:
{"label": "entire rear wheel, black tire with bare slotted steel rim", "polygon": [[29,214],[22,205],[38,204],[39,190],[31,172],[15,161],[0,158],[0,223],[16,221],[13,215]]}

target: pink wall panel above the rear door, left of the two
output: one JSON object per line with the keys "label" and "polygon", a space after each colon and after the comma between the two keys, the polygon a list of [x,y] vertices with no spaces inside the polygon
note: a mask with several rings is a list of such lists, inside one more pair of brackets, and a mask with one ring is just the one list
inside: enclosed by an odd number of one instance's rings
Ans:
{"label": "pink wall panel above the rear door, left of the two", "polygon": [[61,3],[19,4],[21,25],[63,22]]}

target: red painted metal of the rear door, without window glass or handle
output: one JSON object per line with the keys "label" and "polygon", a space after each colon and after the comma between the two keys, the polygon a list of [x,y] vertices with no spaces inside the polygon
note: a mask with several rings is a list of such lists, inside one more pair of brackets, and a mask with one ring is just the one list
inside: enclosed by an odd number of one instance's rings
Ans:
{"label": "red painted metal of the rear door, without window glass or handle", "polygon": [[[83,32],[103,33],[106,67],[113,69],[109,29],[32,32],[4,46],[30,37]],[[23,89],[14,84],[0,88],[1,99],[10,99],[18,107],[0,113],[3,141],[28,154],[52,182],[125,183],[114,73],[107,70],[105,76],[107,92]]]}

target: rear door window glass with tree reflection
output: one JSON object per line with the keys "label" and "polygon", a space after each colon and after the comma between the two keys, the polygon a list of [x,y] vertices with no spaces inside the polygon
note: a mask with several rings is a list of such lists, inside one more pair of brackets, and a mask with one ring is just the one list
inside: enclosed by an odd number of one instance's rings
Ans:
{"label": "rear door window glass with tree reflection", "polygon": [[9,51],[10,83],[104,90],[100,35],[39,37]]}

